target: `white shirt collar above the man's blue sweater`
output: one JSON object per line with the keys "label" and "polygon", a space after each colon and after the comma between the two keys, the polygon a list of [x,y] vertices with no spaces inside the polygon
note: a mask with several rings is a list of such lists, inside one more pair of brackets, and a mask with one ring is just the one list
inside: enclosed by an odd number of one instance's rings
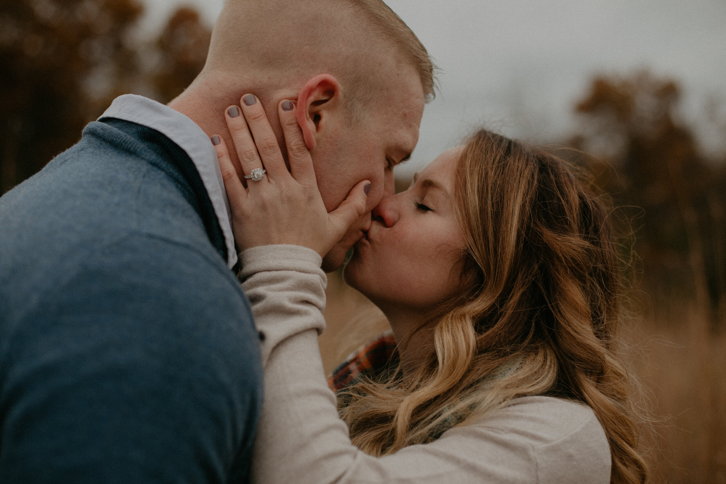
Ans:
{"label": "white shirt collar above the man's blue sweater", "polygon": [[232,234],[232,211],[217,163],[217,154],[207,134],[187,116],[160,102],[136,94],[124,94],[113,100],[98,120],[118,118],[155,129],[184,149],[202,179],[227,245],[227,266],[237,263]]}

